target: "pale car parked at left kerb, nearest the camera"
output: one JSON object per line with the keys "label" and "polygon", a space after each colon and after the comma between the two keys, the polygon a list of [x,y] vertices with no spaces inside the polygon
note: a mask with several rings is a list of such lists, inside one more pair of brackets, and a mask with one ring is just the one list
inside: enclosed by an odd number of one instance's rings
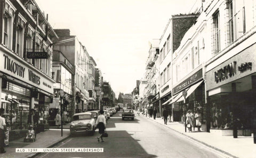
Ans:
{"label": "pale car parked at left kerb, nearest the camera", "polygon": [[95,120],[91,112],[76,113],[72,116],[70,123],[70,135],[73,136],[80,132],[95,132]]}

